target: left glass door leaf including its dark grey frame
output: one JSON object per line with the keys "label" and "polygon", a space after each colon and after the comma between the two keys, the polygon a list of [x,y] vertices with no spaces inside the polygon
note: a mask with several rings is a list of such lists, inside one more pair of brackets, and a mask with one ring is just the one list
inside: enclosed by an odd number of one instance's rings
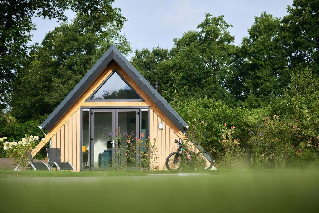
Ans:
{"label": "left glass door leaf including its dark grey frame", "polygon": [[115,113],[112,109],[92,109],[91,113],[91,170],[108,170],[115,151]]}

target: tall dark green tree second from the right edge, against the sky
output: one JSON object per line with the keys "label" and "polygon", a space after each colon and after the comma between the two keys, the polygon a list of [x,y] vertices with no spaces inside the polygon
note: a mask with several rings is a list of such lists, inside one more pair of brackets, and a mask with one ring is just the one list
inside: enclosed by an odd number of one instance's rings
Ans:
{"label": "tall dark green tree second from the right edge, against the sky", "polygon": [[[280,42],[281,20],[263,12],[244,37],[228,81],[238,101],[249,108],[265,106],[288,85],[287,58]],[[233,85],[233,86],[232,86]]]}

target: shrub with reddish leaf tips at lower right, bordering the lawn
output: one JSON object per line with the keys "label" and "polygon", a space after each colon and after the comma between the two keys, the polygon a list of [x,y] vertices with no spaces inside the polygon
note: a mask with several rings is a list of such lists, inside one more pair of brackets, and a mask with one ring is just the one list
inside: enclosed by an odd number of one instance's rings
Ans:
{"label": "shrub with reddish leaf tips at lower right, bordering the lawn", "polygon": [[263,124],[249,133],[254,168],[285,168],[289,159],[303,156],[312,147],[311,138],[304,140],[300,136],[298,121],[281,121],[278,115],[263,118]]}

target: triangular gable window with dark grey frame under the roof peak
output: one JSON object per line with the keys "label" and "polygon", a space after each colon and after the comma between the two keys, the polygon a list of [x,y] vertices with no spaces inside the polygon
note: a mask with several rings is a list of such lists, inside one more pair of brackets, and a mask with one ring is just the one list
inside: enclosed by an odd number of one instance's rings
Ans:
{"label": "triangular gable window with dark grey frame under the roof peak", "polygon": [[137,92],[122,78],[122,76],[113,71],[109,77],[104,80],[87,101],[142,101]]}

